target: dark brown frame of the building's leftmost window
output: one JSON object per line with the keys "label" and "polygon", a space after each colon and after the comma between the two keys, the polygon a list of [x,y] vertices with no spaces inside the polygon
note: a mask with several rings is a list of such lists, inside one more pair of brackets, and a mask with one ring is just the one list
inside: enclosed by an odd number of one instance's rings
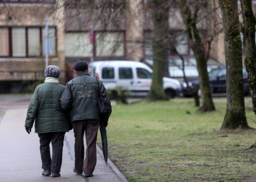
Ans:
{"label": "dark brown frame of the building's leftmost window", "polygon": [[[3,56],[0,55],[0,58],[42,58],[44,57],[43,55],[43,38],[42,38],[42,32],[43,29],[45,28],[44,26],[0,26],[1,29],[8,29],[8,33],[9,33],[9,54],[8,56]],[[26,56],[22,57],[22,56],[13,56],[13,36],[12,36],[12,30],[15,28],[24,28],[25,29],[25,50],[26,50]],[[39,40],[40,40],[40,55],[39,56],[29,56],[29,50],[28,50],[28,29],[29,28],[38,28],[39,29]],[[55,29],[55,50],[56,50],[56,54],[54,56],[50,56],[51,58],[55,58],[58,55],[58,51],[57,51],[57,27],[56,26],[49,26],[49,28],[54,28]]]}

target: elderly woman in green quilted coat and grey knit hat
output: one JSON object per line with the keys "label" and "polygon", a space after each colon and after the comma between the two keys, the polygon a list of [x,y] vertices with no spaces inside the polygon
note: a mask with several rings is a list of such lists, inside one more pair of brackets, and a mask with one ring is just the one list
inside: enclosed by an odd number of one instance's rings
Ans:
{"label": "elderly woman in green quilted coat and grey knit hat", "polygon": [[60,98],[65,89],[59,83],[60,74],[61,70],[57,66],[50,65],[45,68],[45,81],[34,90],[25,121],[28,134],[35,121],[34,129],[40,138],[43,176],[60,176],[64,135],[69,131],[67,115],[60,106]]}

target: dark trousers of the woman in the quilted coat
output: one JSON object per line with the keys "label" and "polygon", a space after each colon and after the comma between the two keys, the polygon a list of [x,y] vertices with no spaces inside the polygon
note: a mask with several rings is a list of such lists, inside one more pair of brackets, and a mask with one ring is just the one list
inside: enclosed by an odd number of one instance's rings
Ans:
{"label": "dark trousers of the woman in the quilted coat", "polygon": [[[42,169],[60,173],[62,164],[62,151],[65,132],[39,133]],[[50,154],[52,142],[52,159]]]}

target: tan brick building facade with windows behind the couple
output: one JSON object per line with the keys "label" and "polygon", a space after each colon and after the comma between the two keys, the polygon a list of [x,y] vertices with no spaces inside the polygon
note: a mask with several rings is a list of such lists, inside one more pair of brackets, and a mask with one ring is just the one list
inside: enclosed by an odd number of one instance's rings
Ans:
{"label": "tan brick building facade with windows behind the couple", "polygon": [[[88,63],[97,60],[152,62],[153,23],[148,1],[110,1],[107,4],[100,4],[102,1],[98,0],[91,1],[91,4],[83,2],[5,0],[1,3],[0,93],[18,93],[24,84],[42,82],[44,79],[46,16],[49,17],[51,48],[49,64],[63,70],[63,84],[72,78],[70,70],[77,60]],[[216,11],[213,21],[199,23],[202,35],[214,34],[221,29],[220,13]],[[209,26],[214,28],[212,32],[206,32]],[[167,30],[171,36],[169,41],[188,60],[188,66],[195,66],[188,37],[184,33],[179,34],[183,30],[179,8],[173,3]],[[212,64],[225,64],[223,33],[216,33],[210,57]],[[169,61],[170,65],[180,61],[171,49]]]}

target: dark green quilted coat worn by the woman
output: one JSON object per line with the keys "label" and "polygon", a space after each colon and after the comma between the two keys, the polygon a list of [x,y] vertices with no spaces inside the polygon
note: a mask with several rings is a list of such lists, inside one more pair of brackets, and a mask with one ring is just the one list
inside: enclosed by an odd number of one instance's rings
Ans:
{"label": "dark green quilted coat worn by the woman", "polygon": [[25,127],[32,128],[36,119],[36,133],[68,132],[68,118],[60,105],[64,89],[65,86],[59,83],[38,85],[28,107]]}

